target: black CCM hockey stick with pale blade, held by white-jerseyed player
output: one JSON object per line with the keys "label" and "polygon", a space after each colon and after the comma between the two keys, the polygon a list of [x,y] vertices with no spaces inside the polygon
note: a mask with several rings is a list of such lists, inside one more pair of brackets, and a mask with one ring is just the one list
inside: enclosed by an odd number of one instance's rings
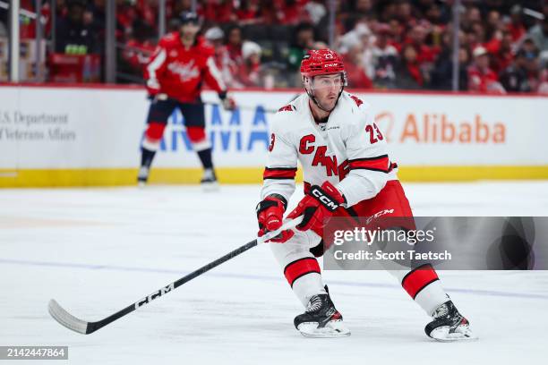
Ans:
{"label": "black CCM hockey stick with pale blade, held by white-jerseyed player", "polygon": [[288,220],[277,231],[266,233],[262,237],[256,238],[255,240],[251,242],[245,243],[244,246],[228,252],[225,256],[218,258],[214,261],[211,261],[209,264],[203,267],[200,267],[197,270],[194,270],[192,273],[188,274],[187,276],[183,276],[180,279],[176,280],[175,282],[161,287],[156,292],[151,293],[150,295],[140,299],[139,301],[135,301],[133,304],[130,304],[129,306],[125,307],[123,310],[119,310],[113,315],[108,316],[107,318],[98,320],[97,322],[87,322],[80,318],[74,317],[68,311],[64,310],[63,307],[61,307],[55,299],[52,299],[49,301],[47,305],[47,310],[49,311],[49,314],[51,315],[51,317],[53,317],[62,326],[67,327],[68,329],[72,329],[74,332],[78,332],[79,334],[82,334],[82,335],[90,335],[91,333],[97,331],[98,329],[105,327],[108,324],[114,322],[116,319],[122,318],[125,315],[133,312],[133,310],[138,310],[145,304],[149,304],[150,301],[153,301],[156,298],[159,298],[160,296],[166,293],[173,292],[179,286],[193,280],[193,278],[197,276],[201,276],[201,274],[204,274],[210,271],[211,268],[218,267],[220,264],[228,261],[229,259],[234,259],[239,254],[244,253],[246,250],[253,249],[253,247],[257,246],[259,243],[269,241],[271,238],[276,237],[279,233],[281,233],[284,230],[295,228],[295,226],[300,224],[302,221],[303,221],[303,216],[298,216],[293,220]]}

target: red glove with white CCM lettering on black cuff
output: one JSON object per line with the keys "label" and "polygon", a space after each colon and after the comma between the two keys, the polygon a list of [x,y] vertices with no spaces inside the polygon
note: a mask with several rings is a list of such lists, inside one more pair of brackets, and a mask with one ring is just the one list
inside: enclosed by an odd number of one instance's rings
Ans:
{"label": "red glove with white CCM lettering on black cuff", "polygon": [[299,231],[312,229],[322,237],[323,227],[327,225],[335,210],[344,202],[343,195],[330,182],[322,183],[321,186],[313,185],[287,218],[294,219],[297,216],[304,216],[303,222],[297,225],[296,229]]}

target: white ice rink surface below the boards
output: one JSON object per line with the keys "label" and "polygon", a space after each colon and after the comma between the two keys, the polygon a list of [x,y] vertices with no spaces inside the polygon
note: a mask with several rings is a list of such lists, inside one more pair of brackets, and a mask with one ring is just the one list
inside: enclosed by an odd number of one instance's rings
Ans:
{"label": "white ice rink surface below the boards", "polygon": [[[415,216],[548,215],[545,182],[404,187]],[[73,333],[47,314],[47,301],[56,298],[76,317],[107,317],[253,240],[259,190],[0,190],[0,344],[68,345],[70,364],[546,360],[548,271],[441,272],[442,284],[480,336],[458,344],[424,335],[429,318],[388,273],[326,271],[352,335],[307,339],[293,327],[303,308],[266,245],[91,335]]]}

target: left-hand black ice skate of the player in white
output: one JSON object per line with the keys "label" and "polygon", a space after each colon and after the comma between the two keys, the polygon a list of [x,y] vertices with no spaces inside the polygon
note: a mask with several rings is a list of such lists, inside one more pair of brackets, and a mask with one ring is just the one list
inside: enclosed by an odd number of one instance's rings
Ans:
{"label": "left-hand black ice skate of the player in white", "polygon": [[335,309],[329,294],[314,295],[306,311],[295,317],[295,328],[305,337],[344,337],[350,330],[342,315]]}

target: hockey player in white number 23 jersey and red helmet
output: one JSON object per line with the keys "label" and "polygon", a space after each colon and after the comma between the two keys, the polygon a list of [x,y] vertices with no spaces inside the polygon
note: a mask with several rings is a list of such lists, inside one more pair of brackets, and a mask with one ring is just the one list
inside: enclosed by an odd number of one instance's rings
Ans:
{"label": "hockey player in white number 23 jersey and red helmet", "polygon": [[[305,196],[287,217],[304,215],[295,232],[271,240],[287,282],[305,312],[295,327],[305,336],[350,335],[321,279],[313,252],[321,255],[321,236],[331,216],[412,217],[390,160],[386,140],[362,100],[343,91],[346,72],[330,49],[304,55],[305,93],[279,109],[271,124],[270,153],[256,211],[259,235],[282,225],[295,191],[297,160],[304,170]],[[389,228],[389,227],[387,227]],[[426,335],[440,341],[474,338],[464,318],[441,288],[431,265],[391,271],[415,302],[432,317]]]}

